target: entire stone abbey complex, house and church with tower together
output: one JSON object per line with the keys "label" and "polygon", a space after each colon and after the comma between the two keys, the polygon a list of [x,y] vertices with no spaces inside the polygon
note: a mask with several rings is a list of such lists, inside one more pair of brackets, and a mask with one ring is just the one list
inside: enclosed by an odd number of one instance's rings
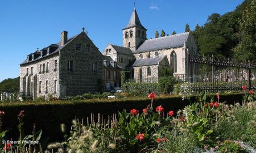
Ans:
{"label": "entire stone abbey complex, house and church with tower together", "polygon": [[[189,54],[198,54],[191,32],[147,39],[147,29],[133,10],[122,29],[123,45],[106,45],[101,53],[84,32],[27,56],[20,64],[20,92],[33,98],[52,94],[63,98],[85,92],[110,91],[121,86],[120,71],[137,82],[158,82],[163,67],[185,80]],[[191,70],[190,70],[191,71]],[[102,86],[103,85],[103,86]]]}

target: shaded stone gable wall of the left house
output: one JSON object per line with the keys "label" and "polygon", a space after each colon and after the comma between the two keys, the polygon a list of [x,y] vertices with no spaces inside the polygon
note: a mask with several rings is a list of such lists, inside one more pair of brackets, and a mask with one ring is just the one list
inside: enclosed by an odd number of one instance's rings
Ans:
{"label": "shaded stone gable wall of the left house", "polygon": [[[81,44],[80,51],[76,50],[77,44]],[[90,45],[89,52],[86,52],[86,45]],[[73,62],[73,71],[68,71],[68,61]],[[94,63],[97,65],[96,72],[92,70]],[[81,32],[60,50],[60,87],[65,92],[61,96],[97,92],[97,80],[102,79],[102,69],[102,54],[85,32]]]}

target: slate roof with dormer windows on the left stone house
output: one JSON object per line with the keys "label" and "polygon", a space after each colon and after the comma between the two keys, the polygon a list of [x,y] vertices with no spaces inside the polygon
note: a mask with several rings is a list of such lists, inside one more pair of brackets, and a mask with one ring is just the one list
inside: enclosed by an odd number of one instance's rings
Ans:
{"label": "slate roof with dormer windows on the left stone house", "polygon": [[[57,42],[56,44],[51,44],[51,45],[47,46],[46,48],[43,48],[42,50],[36,50],[34,53],[31,53],[31,54],[39,54],[39,53],[40,53],[40,55],[42,55],[42,52],[43,52],[44,49],[47,49],[47,48],[49,48],[50,46],[51,46],[51,47],[56,47],[56,50],[54,50],[53,52],[49,53],[48,55],[46,54],[46,55],[43,56],[43,57],[42,57],[42,56],[39,56],[39,57],[37,57],[37,58],[35,58],[34,60],[31,60],[31,61],[28,61],[28,58],[27,58],[27,59],[25,59],[25,61],[23,61],[22,63],[20,63],[20,65],[23,65],[23,64],[25,64],[25,63],[34,62],[34,61],[37,61],[37,60],[39,60],[39,59],[42,59],[42,58],[51,56],[52,54],[59,53],[60,49],[64,48],[65,45],[67,45],[71,40],[75,39],[75,37],[77,37],[77,36],[78,36],[78,35],[75,35],[75,36],[73,36],[73,37],[70,37],[70,38],[68,39],[67,43],[64,44],[64,45],[62,45],[62,46],[60,45],[61,42]],[[28,56],[30,56],[31,54],[29,54]]]}

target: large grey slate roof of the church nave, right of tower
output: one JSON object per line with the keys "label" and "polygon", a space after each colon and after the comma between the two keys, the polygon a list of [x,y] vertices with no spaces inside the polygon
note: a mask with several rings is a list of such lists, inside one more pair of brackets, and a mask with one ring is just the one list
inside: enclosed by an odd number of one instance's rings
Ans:
{"label": "large grey slate roof of the church nave, right of tower", "polygon": [[141,46],[134,53],[142,53],[151,50],[176,48],[184,46],[184,42],[187,41],[189,32],[179,33],[176,35],[170,35],[165,37],[159,37],[156,39],[149,39],[143,42]]}

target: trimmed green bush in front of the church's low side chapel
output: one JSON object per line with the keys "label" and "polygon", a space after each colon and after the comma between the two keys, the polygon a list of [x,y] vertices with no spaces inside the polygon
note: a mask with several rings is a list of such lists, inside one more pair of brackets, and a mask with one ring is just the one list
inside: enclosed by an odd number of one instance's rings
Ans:
{"label": "trimmed green bush in front of the church's low side chapel", "polygon": [[127,82],[123,84],[122,90],[129,92],[131,96],[146,96],[152,91],[160,94],[159,84],[151,82]]}

